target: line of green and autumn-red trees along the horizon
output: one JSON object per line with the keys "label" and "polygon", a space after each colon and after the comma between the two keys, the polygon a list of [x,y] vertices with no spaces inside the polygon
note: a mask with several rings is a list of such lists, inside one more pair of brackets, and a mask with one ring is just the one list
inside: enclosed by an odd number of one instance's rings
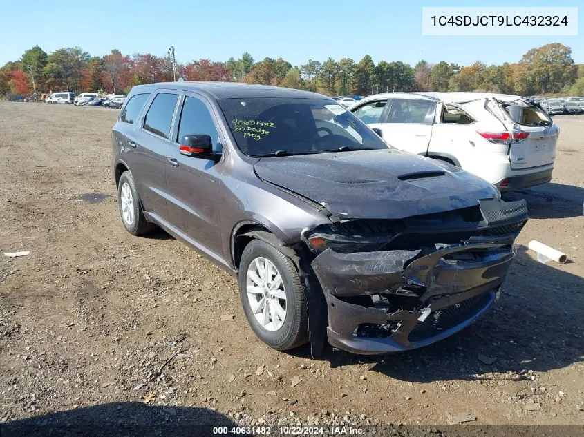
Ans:
{"label": "line of green and autumn-red trees along the horizon", "polygon": [[50,54],[39,46],[0,68],[0,96],[32,95],[55,90],[75,93],[104,90],[128,93],[132,86],[176,77],[193,81],[243,81],[285,86],[326,95],[369,95],[386,91],[485,91],[516,95],[564,93],[584,95],[584,64],[574,64],[572,49],[551,43],[529,50],[514,64],[490,65],[476,61],[460,66],[424,60],[415,66],[402,61],[379,61],[369,55],[355,62],[309,59],[292,66],[283,58],[256,61],[248,52],[225,62],[198,59],[177,64],[171,57],[150,53],[122,55],[112,50],[91,56],[80,47],[59,48]]}

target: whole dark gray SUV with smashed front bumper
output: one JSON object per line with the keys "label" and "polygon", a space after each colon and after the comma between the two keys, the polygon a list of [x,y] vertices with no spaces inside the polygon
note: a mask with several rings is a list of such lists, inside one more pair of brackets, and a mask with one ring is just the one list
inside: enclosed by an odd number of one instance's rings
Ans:
{"label": "whole dark gray SUV with smashed front bumper", "polygon": [[236,275],[279,350],[388,353],[460,331],[493,306],[527,221],[525,201],[300,90],[135,86],[112,142],[126,230],[158,225]]}

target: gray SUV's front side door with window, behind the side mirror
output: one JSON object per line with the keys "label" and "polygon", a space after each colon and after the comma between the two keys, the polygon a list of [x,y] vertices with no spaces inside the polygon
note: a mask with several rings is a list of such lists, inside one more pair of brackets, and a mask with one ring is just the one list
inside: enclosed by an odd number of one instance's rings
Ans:
{"label": "gray SUV's front side door with window, behind the side mirror", "polygon": [[209,101],[196,93],[184,94],[167,149],[169,215],[185,240],[213,256],[223,250],[218,206],[223,164],[208,157],[182,155],[179,146],[183,135],[205,134],[211,137],[214,153],[223,153],[223,140]]}

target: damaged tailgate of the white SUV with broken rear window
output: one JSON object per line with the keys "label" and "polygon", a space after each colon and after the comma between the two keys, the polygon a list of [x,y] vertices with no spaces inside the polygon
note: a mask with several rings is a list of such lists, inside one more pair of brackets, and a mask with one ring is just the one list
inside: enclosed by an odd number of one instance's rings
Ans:
{"label": "damaged tailgate of the white SUV with broken rear window", "polygon": [[511,103],[493,100],[489,108],[493,108],[514,137],[509,146],[513,170],[554,163],[559,129],[543,110],[523,100]]}

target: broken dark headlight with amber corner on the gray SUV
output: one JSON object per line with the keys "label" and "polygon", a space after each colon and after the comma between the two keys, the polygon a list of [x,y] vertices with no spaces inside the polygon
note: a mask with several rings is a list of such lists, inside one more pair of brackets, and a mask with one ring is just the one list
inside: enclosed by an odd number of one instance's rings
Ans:
{"label": "broken dark headlight with amber corner on the gray SUV", "polygon": [[339,226],[317,226],[312,231],[305,231],[303,238],[308,249],[318,255],[326,249],[331,249],[337,253],[379,251],[394,235],[391,231],[375,232],[375,235],[370,235],[370,233],[364,231],[359,232],[358,229],[362,228],[363,224],[356,225],[355,223],[350,222],[350,224],[340,224]]}

